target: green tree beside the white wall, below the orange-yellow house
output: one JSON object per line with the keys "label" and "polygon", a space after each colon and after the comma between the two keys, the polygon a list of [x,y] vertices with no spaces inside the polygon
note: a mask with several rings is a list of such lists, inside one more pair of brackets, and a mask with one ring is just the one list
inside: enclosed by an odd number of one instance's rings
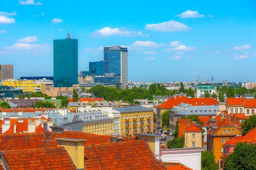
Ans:
{"label": "green tree beside the white wall, below the orange-yellow house", "polygon": [[218,170],[218,164],[215,163],[213,153],[209,151],[202,151],[201,170]]}

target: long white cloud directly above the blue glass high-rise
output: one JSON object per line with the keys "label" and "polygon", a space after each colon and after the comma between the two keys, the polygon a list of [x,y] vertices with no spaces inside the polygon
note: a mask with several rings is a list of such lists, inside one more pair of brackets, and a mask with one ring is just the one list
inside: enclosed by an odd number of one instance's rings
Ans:
{"label": "long white cloud directly above the blue glass high-rise", "polygon": [[124,37],[136,37],[136,36],[142,36],[142,37],[148,37],[149,34],[142,34],[140,31],[129,31],[125,28],[110,28],[105,27],[102,29],[99,29],[97,31],[94,31],[92,33],[93,37],[110,37],[113,35],[119,35]]}

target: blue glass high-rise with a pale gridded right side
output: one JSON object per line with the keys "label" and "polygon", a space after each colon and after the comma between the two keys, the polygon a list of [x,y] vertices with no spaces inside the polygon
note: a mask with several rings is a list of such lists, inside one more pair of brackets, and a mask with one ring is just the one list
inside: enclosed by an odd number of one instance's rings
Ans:
{"label": "blue glass high-rise with a pale gridded right side", "polygon": [[121,88],[128,85],[128,50],[121,46],[104,47],[104,73],[116,74],[120,78]]}

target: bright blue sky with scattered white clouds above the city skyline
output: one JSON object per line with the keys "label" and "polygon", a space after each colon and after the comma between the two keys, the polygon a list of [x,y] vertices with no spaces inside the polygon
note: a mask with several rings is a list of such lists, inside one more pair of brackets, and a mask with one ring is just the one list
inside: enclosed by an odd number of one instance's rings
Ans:
{"label": "bright blue sky with scattered white clouds above the city skyline", "polygon": [[131,81],[256,81],[256,1],[0,0],[0,64],[52,76],[55,39],[79,41],[79,70],[128,47]]}

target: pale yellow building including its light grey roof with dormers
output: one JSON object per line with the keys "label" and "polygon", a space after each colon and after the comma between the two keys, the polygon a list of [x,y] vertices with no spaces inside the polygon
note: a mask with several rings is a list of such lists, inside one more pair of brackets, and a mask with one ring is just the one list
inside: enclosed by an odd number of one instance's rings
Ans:
{"label": "pale yellow building including its light grey roof with dormers", "polygon": [[83,132],[97,135],[113,134],[113,118],[102,111],[76,113],[83,120]]}

